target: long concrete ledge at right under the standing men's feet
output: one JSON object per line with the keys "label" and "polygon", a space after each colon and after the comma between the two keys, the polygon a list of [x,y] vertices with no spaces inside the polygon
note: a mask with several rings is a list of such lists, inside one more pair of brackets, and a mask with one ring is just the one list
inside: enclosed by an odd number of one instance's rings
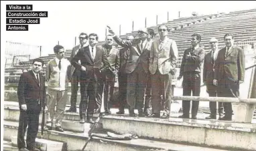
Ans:
{"label": "long concrete ledge at right under the standing men's feet", "polygon": [[102,118],[103,128],[143,138],[189,144],[256,150],[256,125],[216,120],[170,118],[131,118],[108,115]]}

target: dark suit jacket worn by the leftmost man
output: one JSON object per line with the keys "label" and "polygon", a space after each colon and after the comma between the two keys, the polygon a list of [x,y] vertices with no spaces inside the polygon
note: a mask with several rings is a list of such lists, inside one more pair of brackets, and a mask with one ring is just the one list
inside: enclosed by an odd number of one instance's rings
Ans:
{"label": "dark suit jacket worn by the leftmost man", "polygon": [[17,88],[19,108],[21,108],[22,104],[26,104],[27,100],[39,100],[41,106],[46,104],[46,86],[44,76],[41,73],[39,74],[39,79],[40,84],[38,84],[32,70],[21,74]]}

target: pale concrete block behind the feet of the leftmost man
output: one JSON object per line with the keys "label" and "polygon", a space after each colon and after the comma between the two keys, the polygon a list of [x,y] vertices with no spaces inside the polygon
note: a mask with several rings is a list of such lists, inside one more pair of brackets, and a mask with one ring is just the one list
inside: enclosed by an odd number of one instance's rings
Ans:
{"label": "pale concrete block behind the feet of the leftmost man", "polygon": [[[11,145],[17,146],[17,136],[11,137]],[[65,142],[57,142],[53,140],[46,140],[42,138],[36,138],[36,148],[41,151],[62,151],[67,150]]]}

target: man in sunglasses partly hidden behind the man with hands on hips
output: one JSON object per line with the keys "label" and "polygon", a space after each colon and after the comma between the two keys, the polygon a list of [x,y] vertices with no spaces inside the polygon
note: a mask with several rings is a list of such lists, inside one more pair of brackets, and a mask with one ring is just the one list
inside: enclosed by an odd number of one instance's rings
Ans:
{"label": "man in sunglasses partly hidden behind the man with hands on hips", "polygon": [[[76,53],[78,53],[78,50],[81,47],[86,47],[88,45],[87,43],[88,35],[86,33],[80,33],[79,35],[79,41],[80,45],[76,45],[73,47],[71,55],[70,55],[70,63],[72,62],[72,59]],[[70,97],[70,108],[66,110],[66,112],[76,112],[76,100],[77,100],[77,91],[78,91],[78,82],[80,80],[80,71],[76,69],[73,65],[71,67],[71,97]]]}

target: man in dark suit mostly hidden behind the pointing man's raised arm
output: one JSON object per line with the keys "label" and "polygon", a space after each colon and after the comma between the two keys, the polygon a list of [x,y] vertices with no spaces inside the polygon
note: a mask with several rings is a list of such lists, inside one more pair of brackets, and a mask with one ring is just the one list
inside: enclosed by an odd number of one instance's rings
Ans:
{"label": "man in dark suit mostly hidden behind the pointing man's raised arm", "polygon": [[[133,35],[128,35],[126,40],[134,39]],[[127,73],[125,66],[127,62],[127,54],[130,51],[129,47],[123,47],[119,50],[117,57],[119,59],[118,84],[119,84],[119,111],[117,114],[125,114],[125,104],[127,98]]]}

